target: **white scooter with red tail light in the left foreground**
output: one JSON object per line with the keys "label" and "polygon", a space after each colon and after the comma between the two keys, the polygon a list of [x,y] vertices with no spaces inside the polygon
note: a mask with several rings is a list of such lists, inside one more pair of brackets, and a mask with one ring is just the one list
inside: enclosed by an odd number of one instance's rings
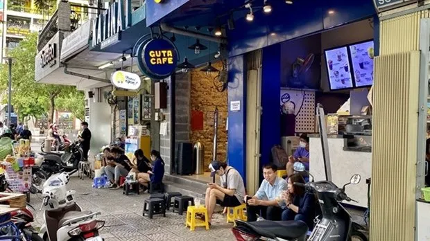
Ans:
{"label": "white scooter with red tail light in the left foreground", "polygon": [[45,241],[103,241],[98,235],[105,222],[96,220],[98,213],[82,211],[74,199],[74,190],[67,190],[70,176],[67,172],[52,175],[43,185],[45,207],[44,225],[40,237]]}

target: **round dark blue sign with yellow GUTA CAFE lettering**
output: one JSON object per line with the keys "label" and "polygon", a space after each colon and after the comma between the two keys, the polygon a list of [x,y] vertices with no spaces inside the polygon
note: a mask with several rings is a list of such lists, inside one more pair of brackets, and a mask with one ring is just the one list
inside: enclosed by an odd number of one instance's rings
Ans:
{"label": "round dark blue sign with yellow GUTA CAFE lettering", "polygon": [[137,64],[142,73],[150,78],[162,80],[176,69],[178,53],[166,39],[150,39],[137,48]]}

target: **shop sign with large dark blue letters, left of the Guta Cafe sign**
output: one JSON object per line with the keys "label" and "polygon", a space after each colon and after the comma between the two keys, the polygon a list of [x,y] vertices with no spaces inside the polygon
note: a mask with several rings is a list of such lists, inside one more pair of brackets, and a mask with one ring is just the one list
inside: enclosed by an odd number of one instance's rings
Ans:
{"label": "shop sign with large dark blue letters, left of the Guta Cafe sign", "polygon": [[121,31],[131,26],[131,0],[117,0],[93,20],[92,46],[105,48],[121,40]]}

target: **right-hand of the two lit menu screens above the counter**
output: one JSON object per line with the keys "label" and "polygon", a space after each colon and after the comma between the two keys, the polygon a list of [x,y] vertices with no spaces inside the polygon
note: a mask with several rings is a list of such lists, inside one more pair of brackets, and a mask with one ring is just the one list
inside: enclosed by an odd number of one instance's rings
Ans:
{"label": "right-hand of the two lit menu screens above the counter", "polygon": [[350,45],[356,87],[373,84],[373,51],[373,41]]}

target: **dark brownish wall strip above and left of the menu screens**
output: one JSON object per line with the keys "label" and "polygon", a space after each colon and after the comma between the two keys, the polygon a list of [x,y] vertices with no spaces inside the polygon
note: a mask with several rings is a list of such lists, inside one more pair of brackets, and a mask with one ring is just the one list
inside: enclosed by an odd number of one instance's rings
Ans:
{"label": "dark brownish wall strip above and left of the menu screens", "polygon": [[371,20],[372,19],[366,19],[354,24],[348,24],[347,26],[335,28],[321,34],[321,89],[323,91],[329,91],[327,69],[324,64],[324,50],[367,39],[373,39],[373,25]]}

